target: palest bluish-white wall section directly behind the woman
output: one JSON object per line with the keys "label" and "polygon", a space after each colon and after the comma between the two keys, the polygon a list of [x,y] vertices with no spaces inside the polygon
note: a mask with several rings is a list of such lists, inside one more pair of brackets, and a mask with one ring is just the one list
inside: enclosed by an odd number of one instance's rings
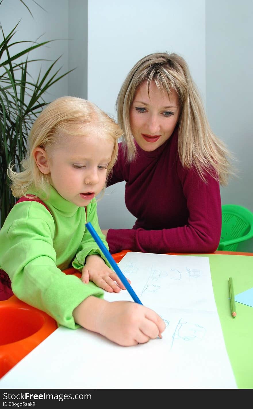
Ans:
{"label": "palest bluish-white wall section directly behind the woman", "polygon": [[[152,52],[183,56],[206,100],[205,2],[203,0],[90,0],[88,2],[88,99],[116,118],[115,101],[131,67]],[[129,227],[124,182],[98,202],[102,228]]]}

